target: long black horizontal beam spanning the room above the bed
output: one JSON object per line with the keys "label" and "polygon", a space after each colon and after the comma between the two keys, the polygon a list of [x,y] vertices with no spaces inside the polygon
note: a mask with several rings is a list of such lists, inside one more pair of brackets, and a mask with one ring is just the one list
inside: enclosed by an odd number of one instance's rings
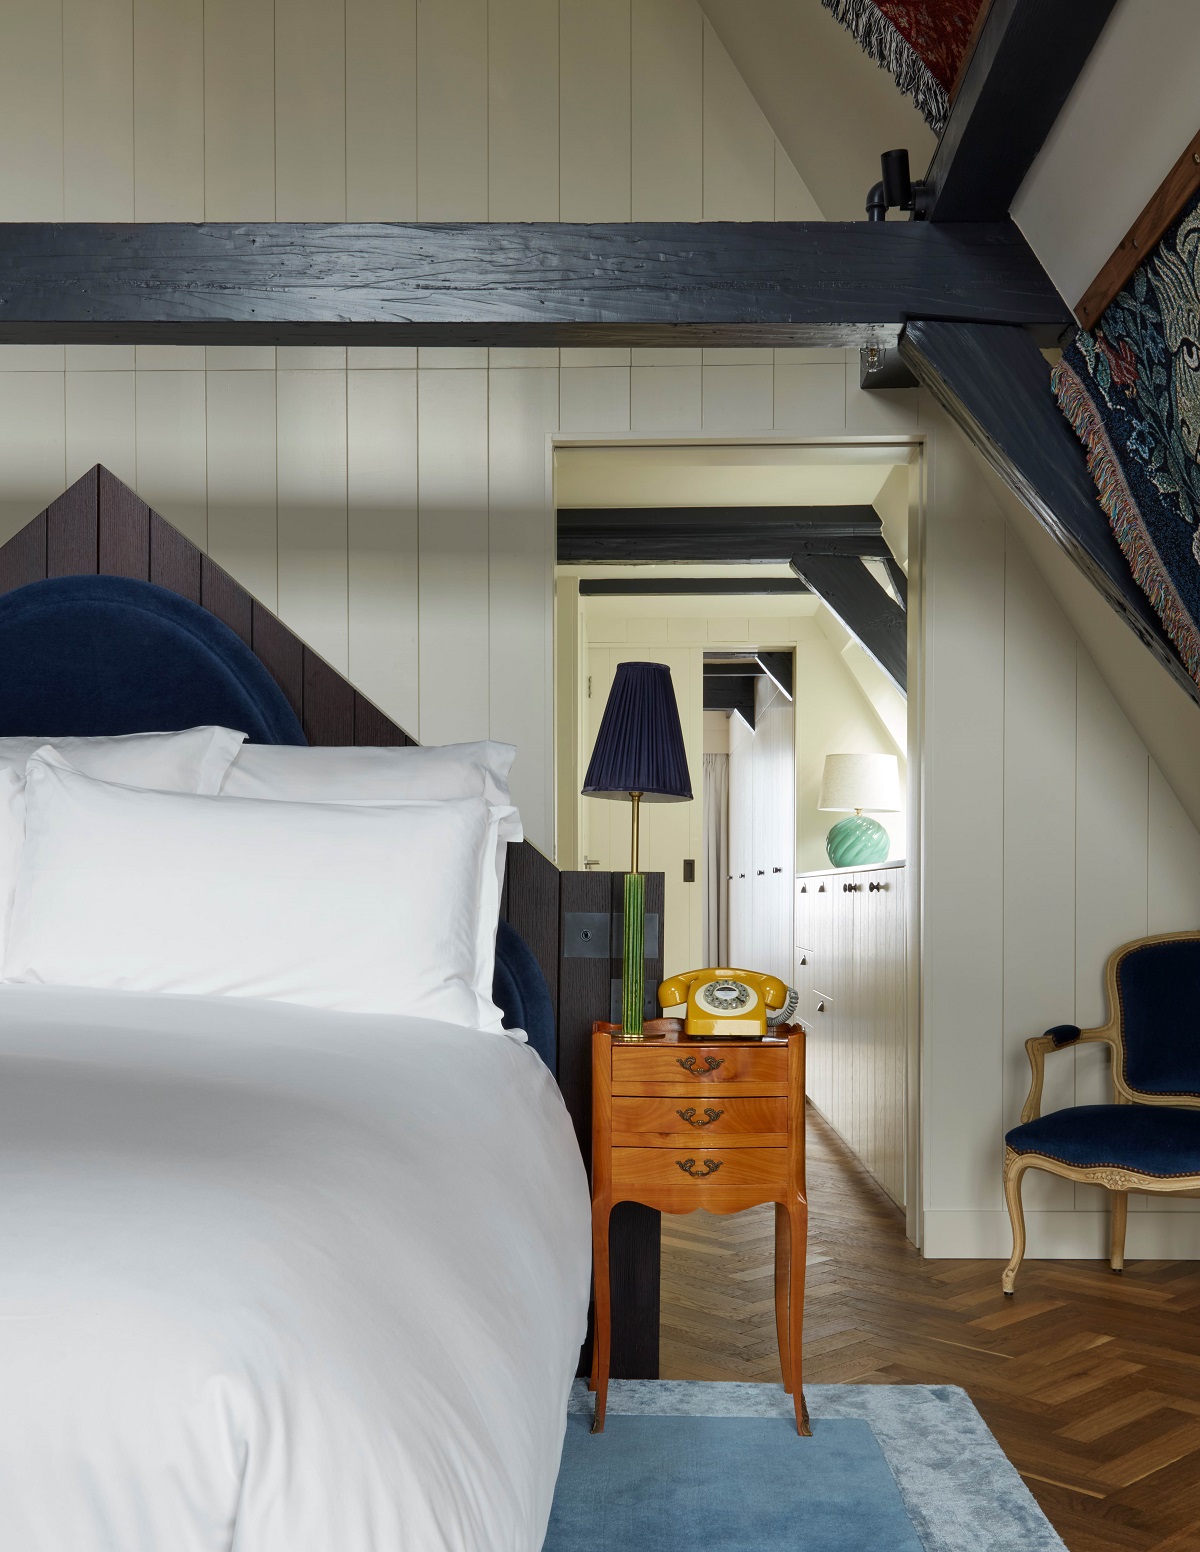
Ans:
{"label": "long black horizontal beam spanning the room above the bed", "polygon": [[1009,220],[0,225],[0,341],[893,345],[1070,321]]}

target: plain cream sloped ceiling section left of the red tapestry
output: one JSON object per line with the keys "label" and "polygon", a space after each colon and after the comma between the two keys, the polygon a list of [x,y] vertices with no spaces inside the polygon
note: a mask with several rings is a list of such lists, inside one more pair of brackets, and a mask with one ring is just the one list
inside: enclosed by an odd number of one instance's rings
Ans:
{"label": "plain cream sloped ceiling section left of the red tapestry", "polygon": [[821,0],[700,5],[826,220],[863,219],[882,151],[925,171],[933,132]]}

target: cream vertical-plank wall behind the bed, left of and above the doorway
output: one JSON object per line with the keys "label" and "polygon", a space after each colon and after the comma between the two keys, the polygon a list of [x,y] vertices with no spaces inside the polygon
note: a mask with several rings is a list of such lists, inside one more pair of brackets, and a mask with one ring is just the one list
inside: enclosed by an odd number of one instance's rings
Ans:
{"label": "cream vertical-plank wall behind the bed, left of and above the doorway", "polygon": [[[5,0],[0,220],[818,219],[695,0]],[[837,354],[0,351],[0,539],[107,464],[553,846],[546,438],[846,427]]]}

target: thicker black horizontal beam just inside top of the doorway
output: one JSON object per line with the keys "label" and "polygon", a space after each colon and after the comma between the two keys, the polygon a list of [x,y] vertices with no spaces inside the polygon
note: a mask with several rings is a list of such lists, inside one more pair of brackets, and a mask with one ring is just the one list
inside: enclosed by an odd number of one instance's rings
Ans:
{"label": "thicker black horizontal beam just inside top of the doorway", "polygon": [[872,506],[559,508],[559,563],[890,554]]}

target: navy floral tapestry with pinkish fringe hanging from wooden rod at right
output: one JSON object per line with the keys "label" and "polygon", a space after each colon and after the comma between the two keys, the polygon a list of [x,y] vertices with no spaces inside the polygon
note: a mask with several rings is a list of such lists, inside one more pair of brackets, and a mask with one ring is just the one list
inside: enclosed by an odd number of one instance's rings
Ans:
{"label": "navy floral tapestry with pinkish fringe hanging from wooden rod at right", "polygon": [[1138,587],[1200,683],[1200,196],[1051,380]]}

